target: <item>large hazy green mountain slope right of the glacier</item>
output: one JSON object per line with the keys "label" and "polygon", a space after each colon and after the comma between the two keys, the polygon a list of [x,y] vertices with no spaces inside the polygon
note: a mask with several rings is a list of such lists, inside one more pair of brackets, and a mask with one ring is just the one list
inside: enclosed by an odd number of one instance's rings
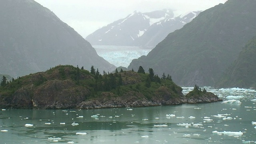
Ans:
{"label": "large hazy green mountain slope right of the glacier", "polygon": [[182,86],[213,86],[255,35],[255,7],[255,0],[228,0],[205,10],[128,69],[151,67],[157,74],[171,74]]}

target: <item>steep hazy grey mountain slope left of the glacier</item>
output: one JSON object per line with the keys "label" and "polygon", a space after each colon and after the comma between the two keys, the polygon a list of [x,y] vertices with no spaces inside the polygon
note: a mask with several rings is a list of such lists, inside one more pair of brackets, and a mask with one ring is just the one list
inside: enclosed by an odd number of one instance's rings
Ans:
{"label": "steep hazy grey mountain slope left of the glacier", "polygon": [[0,21],[2,74],[23,76],[59,64],[115,69],[73,28],[34,0],[1,0]]}

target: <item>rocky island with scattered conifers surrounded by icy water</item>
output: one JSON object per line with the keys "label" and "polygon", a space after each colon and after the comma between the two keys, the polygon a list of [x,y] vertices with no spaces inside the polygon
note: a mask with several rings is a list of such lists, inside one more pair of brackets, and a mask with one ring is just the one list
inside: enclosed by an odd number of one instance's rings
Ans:
{"label": "rocky island with scattered conifers surrounded by icy water", "polygon": [[93,109],[196,104],[221,101],[195,86],[186,96],[171,76],[138,72],[90,72],[66,65],[50,68],[1,84],[0,107],[19,109]]}

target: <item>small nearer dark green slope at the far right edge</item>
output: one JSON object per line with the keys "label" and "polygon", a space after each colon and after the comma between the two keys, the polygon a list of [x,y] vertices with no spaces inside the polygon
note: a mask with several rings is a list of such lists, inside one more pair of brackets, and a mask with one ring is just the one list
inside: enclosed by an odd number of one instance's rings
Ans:
{"label": "small nearer dark green slope at the far right edge", "polygon": [[222,80],[216,84],[218,87],[256,87],[256,36],[248,41],[234,61]]}

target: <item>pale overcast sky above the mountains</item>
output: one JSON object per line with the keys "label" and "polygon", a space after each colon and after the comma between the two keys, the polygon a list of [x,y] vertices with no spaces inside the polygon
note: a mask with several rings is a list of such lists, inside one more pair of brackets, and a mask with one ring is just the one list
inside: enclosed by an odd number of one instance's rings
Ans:
{"label": "pale overcast sky above the mountains", "polygon": [[35,0],[52,10],[84,38],[135,10],[151,12],[172,9],[177,13],[206,10],[226,0]]}

